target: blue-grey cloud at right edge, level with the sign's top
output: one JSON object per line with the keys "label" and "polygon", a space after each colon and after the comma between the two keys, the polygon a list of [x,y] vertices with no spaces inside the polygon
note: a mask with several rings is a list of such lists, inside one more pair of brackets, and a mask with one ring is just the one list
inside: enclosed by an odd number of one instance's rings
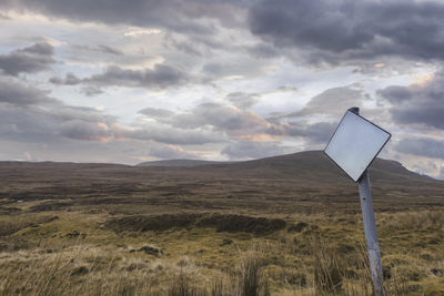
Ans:
{"label": "blue-grey cloud at right edge, level with the sign's top", "polygon": [[390,112],[396,123],[444,129],[444,71],[423,85],[389,86],[379,94],[392,104]]}

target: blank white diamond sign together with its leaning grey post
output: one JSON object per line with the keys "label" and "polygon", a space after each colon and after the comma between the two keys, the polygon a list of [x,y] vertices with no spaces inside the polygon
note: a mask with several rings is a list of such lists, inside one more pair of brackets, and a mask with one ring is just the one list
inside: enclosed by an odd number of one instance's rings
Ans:
{"label": "blank white diamond sign together with its leaning grey post", "polygon": [[385,296],[372,192],[366,170],[385,143],[387,143],[391,134],[361,118],[359,112],[359,108],[351,108],[345,113],[324,152],[354,182],[357,182],[374,294],[376,296]]}

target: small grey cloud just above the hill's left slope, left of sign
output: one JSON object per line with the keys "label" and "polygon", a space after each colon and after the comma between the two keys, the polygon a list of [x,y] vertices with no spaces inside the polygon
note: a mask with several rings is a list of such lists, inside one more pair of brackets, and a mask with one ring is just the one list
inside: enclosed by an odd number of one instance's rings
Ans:
{"label": "small grey cloud just above the hill's left slope, left of sign", "polygon": [[231,160],[261,159],[285,153],[285,150],[274,142],[236,141],[228,144],[221,154]]}

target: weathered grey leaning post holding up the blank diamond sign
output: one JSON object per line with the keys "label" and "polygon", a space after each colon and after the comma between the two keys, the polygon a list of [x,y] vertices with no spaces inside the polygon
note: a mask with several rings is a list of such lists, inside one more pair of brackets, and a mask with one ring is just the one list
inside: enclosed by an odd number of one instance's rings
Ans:
{"label": "weathered grey leaning post holding up the blank diamond sign", "polygon": [[[356,106],[349,109],[349,111],[360,114],[360,109]],[[369,253],[370,271],[373,277],[373,287],[376,296],[385,296],[380,243],[377,242],[372,191],[370,188],[367,170],[365,170],[361,178],[357,181],[357,186],[360,188],[362,220],[364,222],[365,242]]]}

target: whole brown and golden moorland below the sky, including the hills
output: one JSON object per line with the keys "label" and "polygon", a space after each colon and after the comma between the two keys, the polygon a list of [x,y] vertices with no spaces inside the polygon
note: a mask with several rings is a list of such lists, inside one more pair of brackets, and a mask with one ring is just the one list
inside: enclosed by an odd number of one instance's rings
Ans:
{"label": "whole brown and golden moorland below the sky, including the hills", "polygon": [[[372,295],[357,186],[295,155],[2,163],[0,294]],[[370,174],[387,295],[444,295],[443,182]]]}

